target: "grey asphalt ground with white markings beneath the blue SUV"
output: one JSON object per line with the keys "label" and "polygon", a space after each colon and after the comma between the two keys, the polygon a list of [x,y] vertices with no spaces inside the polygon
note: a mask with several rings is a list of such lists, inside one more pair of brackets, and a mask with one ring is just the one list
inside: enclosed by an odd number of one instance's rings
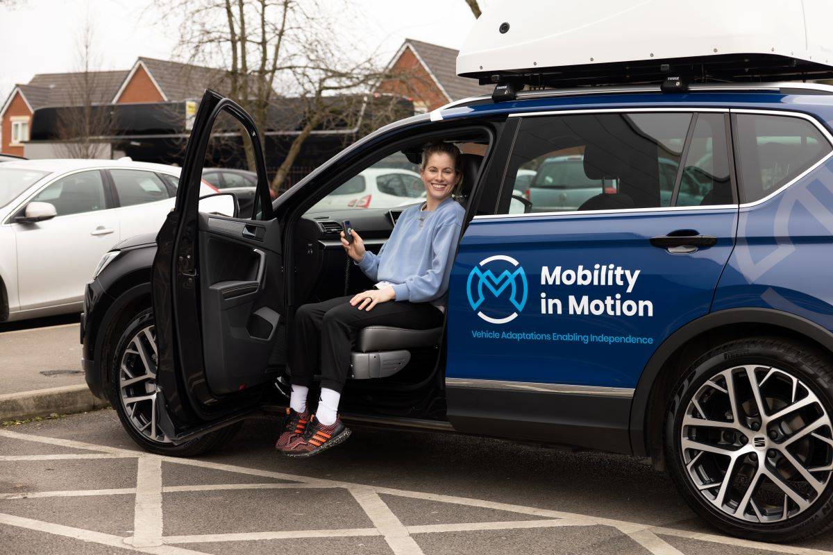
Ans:
{"label": "grey asphalt ground with white markings beneath the blue SUV", "polygon": [[252,419],[199,458],[138,451],[112,409],[0,429],[3,553],[833,553],[728,538],[640,460],[356,429],[296,461]]}

